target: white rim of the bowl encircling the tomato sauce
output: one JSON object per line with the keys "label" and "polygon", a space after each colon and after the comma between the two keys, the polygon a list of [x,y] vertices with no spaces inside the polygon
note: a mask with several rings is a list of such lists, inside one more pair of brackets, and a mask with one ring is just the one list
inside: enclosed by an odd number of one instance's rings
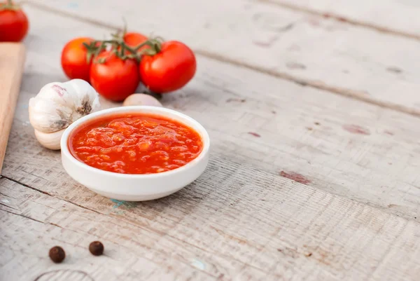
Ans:
{"label": "white rim of the bowl encircling the tomato sauce", "polygon": [[[122,174],[118,172],[109,172],[105,170],[101,170],[97,167],[92,167],[90,165],[87,165],[86,163],[76,159],[71,152],[69,151],[68,141],[69,137],[71,135],[71,132],[78,128],[80,125],[83,125],[83,123],[86,123],[88,121],[91,121],[94,118],[100,118],[102,116],[116,114],[116,113],[123,113],[123,112],[132,112],[132,113],[141,113],[142,110],[146,110],[146,113],[148,114],[156,114],[156,115],[162,115],[167,118],[174,118],[174,116],[179,117],[179,119],[176,119],[176,121],[183,123],[183,125],[187,125],[188,127],[192,128],[193,130],[197,131],[197,133],[202,137],[203,142],[203,148],[200,154],[191,160],[190,162],[186,163],[186,165],[183,165],[181,167],[177,167],[174,170],[169,170],[165,172],[159,172],[154,174]],[[153,112],[152,112],[153,111]],[[181,120],[180,120],[181,119]],[[190,123],[193,123],[194,125],[188,125],[185,121],[182,119],[188,120]],[[78,120],[74,121],[69,125],[69,127],[64,130],[62,138],[60,139],[60,149],[62,151],[62,154],[69,158],[71,163],[73,165],[77,165],[80,168],[83,168],[87,170],[88,172],[97,173],[99,175],[104,175],[108,177],[120,177],[125,179],[155,179],[155,178],[162,178],[162,177],[171,177],[173,174],[177,174],[179,172],[183,172],[185,170],[189,170],[190,167],[193,167],[194,165],[197,165],[201,160],[204,160],[207,153],[209,152],[210,148],[210,137],[207,130],[204,128],[203,125],[201,125],[198,121],[191,118],[190,116],[183,114],[179,111],[176,111],[174,109],[167,109],[165,107],[153,107],[153,106],[146,106],[146,105],[134,105],[134,106],[127,106],[127,107],[112,107],[110,109],[102,109],[99,111],[95,111],[92,114],[88,114],[86,116],[83,116],[79,118]],[[64,157],[64,156],[62,156]]]}

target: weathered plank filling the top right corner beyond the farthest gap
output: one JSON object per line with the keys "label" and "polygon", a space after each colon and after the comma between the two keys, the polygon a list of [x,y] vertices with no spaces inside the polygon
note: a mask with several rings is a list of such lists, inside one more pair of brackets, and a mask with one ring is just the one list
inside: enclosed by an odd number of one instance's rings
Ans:
{"label": "weathered plank filling the top right corner beyond the farthest gap", "polygon": [[257,0],[334,17],[383,32],[420,39],[420,4],[416,0]]}

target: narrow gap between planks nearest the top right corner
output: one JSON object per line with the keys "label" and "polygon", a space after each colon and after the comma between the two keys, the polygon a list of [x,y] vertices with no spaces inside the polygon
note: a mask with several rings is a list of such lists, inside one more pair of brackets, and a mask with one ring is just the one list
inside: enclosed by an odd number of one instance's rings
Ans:
{"label": "narrow gap between planks nearest the top right corner", "polygon": [[368,22],[359,22],[357,20],[352,20],[351,18],[346,18],[342,15],[335,15],[334,13],[319,12],[319,11],[312,10],[310,8],[304,8],[302,6],[295,6],[293,4],[283,3],[283,2],[281,2],[281,0],[253,0],[253,1],[257,1],[257,2],[260,2],[262,4],[270,4],[270,5],[273,5],[273,6],[279,6],[281,8],[287,8],[289,10],[299,11],[299,12],[302,12],[302,13],[307,13],[309,15],[319,15],[319,16],[324,17],[324,18],[333,18],[333,19],[338,20],[340,22],[346,22],[350,25],[355,25],[357,27],[365,27],[365,28],[368,28],[368,29],[374,29],[377,32],[383,32],[383,33],[392,34],[392,35],[396,35],[396,36],[402,36],[402,37],[407,37],[407,38],[410,38],[410,39],[420,40],[420,35],[419,34],[412,34],[412,33],[409,33],[409,32],[401,32],[401,31],[396,30],[396,29],[391,29],[389,27],[384,27],[384,26],[381,26],[381,25],[374,25],[374,24],[368,23]]}

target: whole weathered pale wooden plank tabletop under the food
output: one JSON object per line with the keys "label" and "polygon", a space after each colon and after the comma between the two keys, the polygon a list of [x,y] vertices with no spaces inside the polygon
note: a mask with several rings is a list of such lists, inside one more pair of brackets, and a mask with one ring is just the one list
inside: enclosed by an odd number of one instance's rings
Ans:
{"label": "whole weathered pale wooden plank tabletop under the food", "polygon": [[[418,0],[31,0],[0,179],[0,280],[420,280]],[[43,149],[28,101],[76,36],[123,25],[187,43],[165,107],[209,131],[178,193],[109,200]],[[104,102],[106,107],[119,104]],[[105,245],[92,256],[90,242]],[[63,263],[50,247],[66,251]]]}

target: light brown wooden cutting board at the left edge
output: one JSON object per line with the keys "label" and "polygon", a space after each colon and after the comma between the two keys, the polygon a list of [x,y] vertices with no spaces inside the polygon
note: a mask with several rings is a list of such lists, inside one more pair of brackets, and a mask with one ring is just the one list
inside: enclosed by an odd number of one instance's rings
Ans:
{"label": "light brown wooden cutting board at the left edge", "polygon": [[0,43],[0,172],[20,92],[25,46]]}

